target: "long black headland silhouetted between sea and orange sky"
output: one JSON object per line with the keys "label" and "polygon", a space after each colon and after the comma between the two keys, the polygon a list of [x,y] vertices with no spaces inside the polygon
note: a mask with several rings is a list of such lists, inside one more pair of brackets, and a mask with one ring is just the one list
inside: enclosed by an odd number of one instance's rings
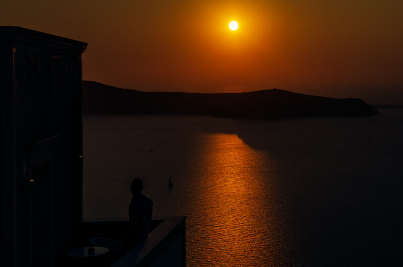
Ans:
{"label": "long black headland silhouetted between sea and orange sky", "polygon": [[272,89],[247,93],[144,92],[83,81],[86,114],[186,114],[276,119],[365,116],[378,111],[357,98],[337,99]]}

